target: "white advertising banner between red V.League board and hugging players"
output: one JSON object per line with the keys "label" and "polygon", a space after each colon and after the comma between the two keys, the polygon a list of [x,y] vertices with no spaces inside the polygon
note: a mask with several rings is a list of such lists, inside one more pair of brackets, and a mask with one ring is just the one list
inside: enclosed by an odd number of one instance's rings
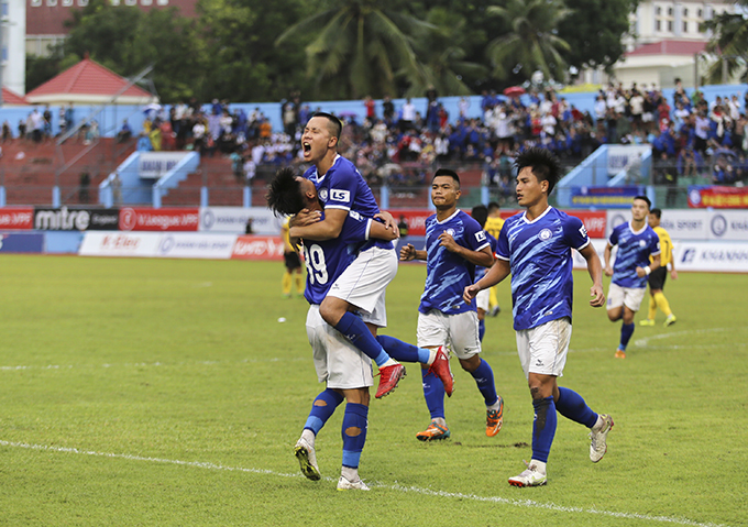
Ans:
{"label": "white advertising banner between red V.League board and hugging players", "polygon": [[252,218],[252,232],[261,235],[278,235],[282,218],[276,218],[265,207],[201,207],[200,224],[202,232],[232,232],[244,234],[246,221]]}

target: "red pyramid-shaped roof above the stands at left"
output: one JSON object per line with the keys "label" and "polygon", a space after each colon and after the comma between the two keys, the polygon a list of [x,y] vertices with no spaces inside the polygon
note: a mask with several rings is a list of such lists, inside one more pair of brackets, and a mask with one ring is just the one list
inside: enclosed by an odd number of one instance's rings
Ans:
{"label": "red pyramid-shaped roof above the stands at left", "polygon": [[[114,96],[127,84],[127,79],[111,69],[95,63],[90,58],[84,58],[72,68],[31,90],[26,94],[26,99],[33,100],[34,97],[38,96],[61,94]],[[150,92],[138,86],[131,86],[121,95],[125,97],[151,97]]]}

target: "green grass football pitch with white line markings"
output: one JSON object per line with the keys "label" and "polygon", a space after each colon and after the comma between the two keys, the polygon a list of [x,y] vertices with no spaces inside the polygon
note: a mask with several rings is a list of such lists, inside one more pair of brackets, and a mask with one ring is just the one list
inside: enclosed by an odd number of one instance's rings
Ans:
{"label": "green grass football pitch with white line markings", "polygon": [[[299,473],[293,446],[322,386],[306,301],[282,298],[280,275],[279,262],[1,256],[0,525],[748,521],[748,275],[669,281],[678,323],[663,328],[660,314],[637,326],[620,361],[619,323],[587,305],[590,278],[575,273],[560,384],[616,425],[593,464],[587,430],[559,418],[537,488],[507,484],[531,455],[532,406],[502,284],[483,356],[506,402],[504,429],[485,437],[483,400],[453,360],[452,438],[417,441],[429,417],[410,365],[372,402],[369,493],[336,491],[342,406],[318,438],[323,480]],[[424,266],[400,266],[383,332],[415,340],[424,278]]]}

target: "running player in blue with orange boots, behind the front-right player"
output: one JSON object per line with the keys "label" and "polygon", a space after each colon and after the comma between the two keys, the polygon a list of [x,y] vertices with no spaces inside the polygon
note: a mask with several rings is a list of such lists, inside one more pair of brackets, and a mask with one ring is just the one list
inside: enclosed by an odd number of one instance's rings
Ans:
{"label": "running player in blue with orange boots, behind the front-right player", "polygon": [[[486,405],[486,436],[502,429],[504,400],[496,394],[494,373],[481,359],[481,339],[475,305],[462,299],[465,286],[475,279],[475,267],[494,263],[486,233],[469,215],[458,209],[460,177],[440,168],[431,180],[431,201],[437,213],[426,220],[426,249],[408,243],[400,260],[426,260],[426,286],[418,307],[418,347],[450,345],[483,395]],[[444,418],[446,386],[432,372],[422,369],[424,395],[431,424],[416,435],[421,441],[446,439],[450,429]]]}

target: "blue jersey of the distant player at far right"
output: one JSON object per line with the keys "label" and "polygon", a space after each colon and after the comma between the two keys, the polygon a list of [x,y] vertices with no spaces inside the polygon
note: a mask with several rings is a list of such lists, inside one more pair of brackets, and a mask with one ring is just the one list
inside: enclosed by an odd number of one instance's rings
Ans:
{"label": "blue jersey of the distant player at far right", "polygon": [[647,287],[647,276],[637,276],[636,268],[646,267],[650,255],[660,254],[660,238],[657,232],[648,224],[634,232],[630,223],[622,223],[613,229],[608,243],[618,245],[613,265],[613,283],[637,289]]}

